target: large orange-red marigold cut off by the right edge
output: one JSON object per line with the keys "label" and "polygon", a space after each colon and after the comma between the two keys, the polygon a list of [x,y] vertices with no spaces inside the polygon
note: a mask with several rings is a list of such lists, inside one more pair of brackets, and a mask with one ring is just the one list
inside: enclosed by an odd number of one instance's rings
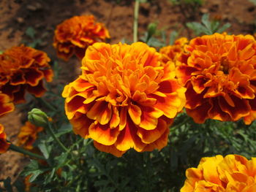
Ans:
{"label": "large orange-red marigold cut off by the right edge", "polygon": [[187,88],[187,114],[249,124],[256,118],[256,42],[250,35],[197,37],[177,58],[177,77]]}

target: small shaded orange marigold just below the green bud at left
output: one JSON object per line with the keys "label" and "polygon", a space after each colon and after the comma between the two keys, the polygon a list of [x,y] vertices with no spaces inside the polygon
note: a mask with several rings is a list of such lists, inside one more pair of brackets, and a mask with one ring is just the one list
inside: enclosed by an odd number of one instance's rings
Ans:
{"label": "small shaded orange marigold just below the green bud at left", "polygon": [[43,131],[44,128],[34,126],[29,121],[26,121],[25,126],[20,128],[20,134],[18,134],[18,145],[27,150],[33,149],[33,144],[37,139],[37,134]]}

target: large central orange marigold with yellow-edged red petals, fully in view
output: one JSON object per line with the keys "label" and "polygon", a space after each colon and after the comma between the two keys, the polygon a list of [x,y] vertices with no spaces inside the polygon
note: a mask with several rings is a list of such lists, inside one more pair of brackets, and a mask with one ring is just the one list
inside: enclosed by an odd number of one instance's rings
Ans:
{"label": "large central orange marigold with yellow-edged red petals, fully in view", "polygon": [[185,104],[174,65],[164,65],[142,42],[95,43],[82,65],[82,75],[62,93],[76,134],[116,156],[167,145],[168,126]]}

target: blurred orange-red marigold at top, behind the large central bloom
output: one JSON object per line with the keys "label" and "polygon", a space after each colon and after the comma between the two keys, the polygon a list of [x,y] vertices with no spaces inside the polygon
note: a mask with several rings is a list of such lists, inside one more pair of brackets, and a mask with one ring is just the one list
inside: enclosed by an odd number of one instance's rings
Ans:
{"label": "blurred orange-red marigold at top, behind the large central bloom", "polygon": [[57,26],[53,47],[59,58],[66,61],[74,54],[82,59],[89,45],[107,38],[108,29],[103,23],[95,23],[93,15],[75,16]]}

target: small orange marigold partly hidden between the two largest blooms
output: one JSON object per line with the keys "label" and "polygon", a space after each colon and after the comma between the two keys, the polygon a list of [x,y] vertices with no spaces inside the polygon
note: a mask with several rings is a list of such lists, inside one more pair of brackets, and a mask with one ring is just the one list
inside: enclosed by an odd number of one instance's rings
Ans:
{"label": "small orange marigold partly hidden between the two largest blooms", "polygon": [[177,55],[184,51],[184,45],[187,45],[188,40],[186,37],[181,37],[174,42],[174,45],[162,47],[159,53],[162,55],[162,61],[167,63],[168,61],[176,61]]}

